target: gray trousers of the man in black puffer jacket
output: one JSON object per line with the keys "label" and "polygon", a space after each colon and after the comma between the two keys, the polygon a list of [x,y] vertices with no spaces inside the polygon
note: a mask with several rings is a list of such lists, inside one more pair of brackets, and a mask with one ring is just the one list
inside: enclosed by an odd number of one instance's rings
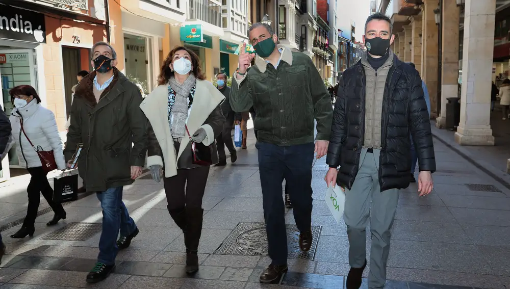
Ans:
{"label": "gray trousers of the man in black puffer jacket", "polygon": [[[345,190],[344,221],[349,238],[349,264],[361,268],[366,259],[366,228],[370,218],[372,248],[368,287],[383,288],[386,283],[386,263],[390,253],[390,229],[397,209],[397,189],[384,192],[379,187],[380,150],[363,149],[360,170],[351,190]],[[371,203],[371,204],[370,204]]]}

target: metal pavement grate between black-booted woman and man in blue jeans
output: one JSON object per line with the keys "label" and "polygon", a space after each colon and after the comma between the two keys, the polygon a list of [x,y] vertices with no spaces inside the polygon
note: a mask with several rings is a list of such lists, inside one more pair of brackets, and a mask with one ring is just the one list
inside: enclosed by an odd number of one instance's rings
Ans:
{"label": "metal pavement grate between black-booted woman and man in blue jeans", "polygon": [[70,223],[69,225],[50,233],[41,239],[59,241],[86,241],[101,231],[101,224]]}

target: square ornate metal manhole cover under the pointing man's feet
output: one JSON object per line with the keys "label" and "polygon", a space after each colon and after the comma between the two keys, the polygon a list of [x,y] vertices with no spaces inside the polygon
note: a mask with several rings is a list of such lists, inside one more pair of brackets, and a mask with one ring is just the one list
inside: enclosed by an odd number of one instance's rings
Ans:
{"label": "square ornate metal manhole cover under the pointing man's feet", "polygon": [[[299,249],[299,230],[295,225],[286,226],[287,247],[289,250],[288,258],[313,260],[321,227],[312,226],[314,238],[312,248],[308,252],[302,252]],[[266,225],[264,223],[240,222],[214,253],[220,255],[266,256]]]}

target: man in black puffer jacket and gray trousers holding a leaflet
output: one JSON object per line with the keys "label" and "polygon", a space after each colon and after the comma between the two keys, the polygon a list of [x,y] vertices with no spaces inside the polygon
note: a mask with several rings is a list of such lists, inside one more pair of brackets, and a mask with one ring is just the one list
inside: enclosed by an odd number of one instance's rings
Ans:
{"label": "man in black puffer jacket and gray trousers holding a leaflet", "polygon": [[389,47],[394,38],[387,16],[375,13],[367,19],[364,39],[368,52],[343,73],[335,103],[326,159],[330,169],[325,180],[345,189],[351,266],[347,289],[358,289],[362,283],[369,217],[368,287],[385,285],[398,190],[409,186],[410,134],[419,160],[420,196],[433,187],[431,173],[436,170],[436,160],[421,78],[393,54]]}

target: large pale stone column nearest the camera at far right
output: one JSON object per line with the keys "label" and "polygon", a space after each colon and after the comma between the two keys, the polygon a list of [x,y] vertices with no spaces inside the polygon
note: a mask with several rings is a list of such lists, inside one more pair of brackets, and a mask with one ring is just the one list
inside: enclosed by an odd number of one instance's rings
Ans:
{"label": "large pale stone column nearest the camera at far right", "polygon": [[461,122],[455,142],[494,145],[490,124],[496,0],[466,0],[462,60]]}

